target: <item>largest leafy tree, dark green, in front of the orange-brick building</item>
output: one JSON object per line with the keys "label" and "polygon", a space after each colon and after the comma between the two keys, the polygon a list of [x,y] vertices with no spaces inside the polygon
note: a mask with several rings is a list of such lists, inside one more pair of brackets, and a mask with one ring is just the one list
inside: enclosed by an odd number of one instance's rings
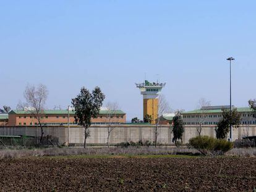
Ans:
{"label": "largest leafy tree, dark green, in front of the orange-brick building", "polygon": [[86,140],[90,136],[91,119],[98,116],[104,99],[105,94],[101,92],[98,86],[96,86],[92,93],[83,86],[80,94],[72,99],[72,105],[75,110],[75,122],[82,125],[85,129],[83,148],[86,148]]}

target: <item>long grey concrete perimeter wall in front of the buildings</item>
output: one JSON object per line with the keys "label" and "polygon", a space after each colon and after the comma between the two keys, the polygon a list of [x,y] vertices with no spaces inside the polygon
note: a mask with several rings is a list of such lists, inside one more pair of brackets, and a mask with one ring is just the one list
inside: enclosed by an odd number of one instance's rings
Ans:
{"label": "long grey concrete perimeter wall in front of the buildings", "polygon": [[[193,125],[184,126],[184,133],[182,136],[183,143],[188,143],[190,138],[198,135],[197,127]],[[84,141],[84,128],[82,127],[44,127],[45,135],[52,135],[59,138],[59,143],[82,144]],[[0,135],[27,135],[27,136],[40,136],[40,127],[0,127]],[[214,126],[203,126],[201,135],[208,135],[215,137]],[[242,138],[242,136],[256,135],[256,126],[247,125],[238,128],[233,128],[233,140]],[[108,138],[108,127],[105,125],[93,125],[90,127],[90,137],[87,143],[92,144],[106,144]],[[121,143],[126,141],[137,142],[155,140],[155,126],[154,125],[116,125],[110,135],[110,143]],[[173,144],[172,129],[168,125],[161,125],[158,128],[158,143]]]}

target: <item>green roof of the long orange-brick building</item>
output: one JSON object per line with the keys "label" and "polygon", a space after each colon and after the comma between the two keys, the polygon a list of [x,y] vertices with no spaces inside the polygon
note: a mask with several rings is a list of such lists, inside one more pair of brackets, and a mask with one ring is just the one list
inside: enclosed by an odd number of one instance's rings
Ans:
{"label": "green roof of the long orange-brick building", "polygon": [[[105,115],[108,114],[109,111],[100,111],[100,115]],[[9,114],[31,114],[30,111],[24,111],[24,110],[12,110],[9,112]],[[67,110],[44,110],[44,114],[48,114],[48,115],[65,115],[68,114]],[[75,114],[74,111],[69,111],[69,114]],[[121,110],[116,110],[114,112],[111,111],[111,114],[126,114],[125,112],[121,111]]]}

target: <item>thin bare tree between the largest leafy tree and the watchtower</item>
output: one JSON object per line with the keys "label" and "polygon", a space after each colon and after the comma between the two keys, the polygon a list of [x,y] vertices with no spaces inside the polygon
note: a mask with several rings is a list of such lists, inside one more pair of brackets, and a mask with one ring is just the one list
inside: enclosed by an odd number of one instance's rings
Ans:
{"label": "thin bare tree between the largest leafy tree and the watchtower", "polygon": [[106,105],[106,108],[108,110],[108,114],[106,116],[106,123],[108,125],[108,148],[109,148],[109,136],[115,128],[113,126],[113,119],[114,117],[117,117],[117,109],[119,109],[119,106],[116,102],[108,102],[108,104]]}

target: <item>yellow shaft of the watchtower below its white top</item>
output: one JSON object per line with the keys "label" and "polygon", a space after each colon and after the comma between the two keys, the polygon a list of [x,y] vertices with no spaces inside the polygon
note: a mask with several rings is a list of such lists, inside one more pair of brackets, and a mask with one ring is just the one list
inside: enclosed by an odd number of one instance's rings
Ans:
{"label": "yellow shaft of the watchtower below its white top", "polygon": [[158,116],[158,99],[143,99],[143,117],[151,115],[152,124],[156,123]]}

